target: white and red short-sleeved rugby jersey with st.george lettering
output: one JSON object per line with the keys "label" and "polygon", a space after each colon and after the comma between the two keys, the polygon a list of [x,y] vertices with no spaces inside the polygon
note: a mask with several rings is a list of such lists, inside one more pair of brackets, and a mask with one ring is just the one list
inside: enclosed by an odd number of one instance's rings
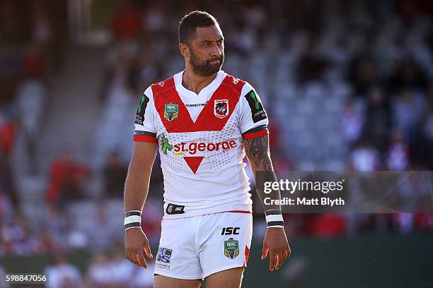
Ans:
{"label": "white and red short-sleeved rugby jersey with st.george lettering", "polygon": [[268,133],[260,97],[224,71],[198,95],[182,78],[147,88],[134,124],[134,141],[159,143],[164,219],[251,212],[242,140]]}

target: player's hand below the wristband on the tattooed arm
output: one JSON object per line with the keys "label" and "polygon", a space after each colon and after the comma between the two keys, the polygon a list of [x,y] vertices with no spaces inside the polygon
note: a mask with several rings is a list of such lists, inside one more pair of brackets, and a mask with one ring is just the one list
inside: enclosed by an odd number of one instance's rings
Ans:
{"label": "player's hand below the wristband on the tattooed arm", "polygon": [[264,260],[269,252],[269,270],[274,268],[278,270],[290,257],[291,251],[289,242],[287,241],[286,233],[282,228],[267,228],[265,240],[263,240],[262,260]]}

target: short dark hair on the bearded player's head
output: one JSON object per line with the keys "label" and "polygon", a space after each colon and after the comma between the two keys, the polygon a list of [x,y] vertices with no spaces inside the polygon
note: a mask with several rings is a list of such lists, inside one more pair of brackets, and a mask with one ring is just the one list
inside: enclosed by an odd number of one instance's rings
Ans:
{"label": "short dark hair on the bearded player's head", "polygon": [[179,43],[189,44],[196,28],[219,25],[217,19],[204,11],[192,11],[183,16],[178,27]]}

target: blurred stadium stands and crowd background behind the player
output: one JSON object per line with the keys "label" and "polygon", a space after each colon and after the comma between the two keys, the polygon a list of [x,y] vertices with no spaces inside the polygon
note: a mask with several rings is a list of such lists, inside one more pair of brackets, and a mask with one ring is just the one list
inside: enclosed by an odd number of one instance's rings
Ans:
{"label": "blurred stadium stands and crowd background behind the player", "polygon": [[[276,170],[433,169],[432,1],[1,0],[0,287],[11,272],[152,287],[123,253],[133,121],[146,87],[183,70],[177,25],[197,9],[219,20],[224,71],[262,98]],[[162,193],[157,159],[154,255]],[[290,260],[260,261],[255,215],[243,287],[433,287],[433,214],[284,217]]]}

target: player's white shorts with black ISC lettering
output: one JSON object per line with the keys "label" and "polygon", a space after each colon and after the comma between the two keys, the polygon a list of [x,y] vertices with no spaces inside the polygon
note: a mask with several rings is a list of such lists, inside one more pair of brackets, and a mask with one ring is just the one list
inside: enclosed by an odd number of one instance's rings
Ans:
{"label": "player's white shorts with black ISC lettering", "polygon": [[253,236],[253,215],[221,212],[164,219],[155,274],[204,279],[216,272],[246,267]]}

